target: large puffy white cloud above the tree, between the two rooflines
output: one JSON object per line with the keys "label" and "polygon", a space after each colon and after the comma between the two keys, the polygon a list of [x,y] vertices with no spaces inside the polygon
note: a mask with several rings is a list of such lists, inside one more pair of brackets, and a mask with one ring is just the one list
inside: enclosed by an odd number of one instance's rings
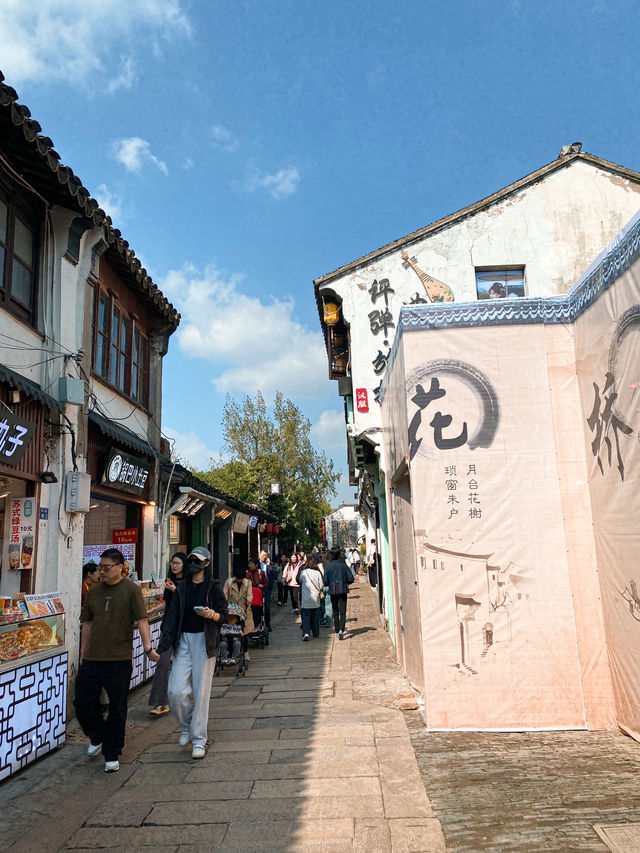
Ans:
{"label": "large puffy white cloud above the tree, between the two rooflines", "polygon": [[225,278],[214,266],[168,273],[163,293],[182,313],[177,332],[181,351],[219,366],[213,385],[220,393],[276,390],[296,399],[317,399],[329,390],[322,334],[294,316],[291,298],[262,301]]}

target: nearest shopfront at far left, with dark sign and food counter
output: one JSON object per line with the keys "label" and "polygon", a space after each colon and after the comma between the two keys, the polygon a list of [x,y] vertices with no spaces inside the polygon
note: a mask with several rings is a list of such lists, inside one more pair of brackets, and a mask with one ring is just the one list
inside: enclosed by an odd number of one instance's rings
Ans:
{"label": "nearest shopfront at far left, with dark sign and food counter", "polygon": [[[0,779],[65,739],[67,652],[64,602],[33,595],[46,549],[38,534],[47,479],[47,420],[60,405],[0,366]],[[54,477],[55,479],[55,477]]]}

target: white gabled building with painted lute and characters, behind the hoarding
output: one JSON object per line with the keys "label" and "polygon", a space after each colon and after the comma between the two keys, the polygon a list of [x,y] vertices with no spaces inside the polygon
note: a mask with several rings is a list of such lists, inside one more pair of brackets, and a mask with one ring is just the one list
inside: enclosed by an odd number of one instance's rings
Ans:
{"label": "white gabled building with painted lute and characters, behind the hoarding", "polygon": [[564,294],[640,207],[640,174],[578,143],[508,187],[315,280],[329,376],[345,399],[351,482],[377,530],[382,615],[398,613],[379,394],[400,309]]}

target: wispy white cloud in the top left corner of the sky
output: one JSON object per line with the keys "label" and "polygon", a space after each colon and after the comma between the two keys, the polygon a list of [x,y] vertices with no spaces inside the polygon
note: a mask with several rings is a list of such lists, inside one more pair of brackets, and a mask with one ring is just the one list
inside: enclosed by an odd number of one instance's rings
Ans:
{"label": "wispy white cloud in the top left corner of the sky", "polygon": [[96,72],[104,79],[120,70],[114,48],[131,44],[139,50],[141,40],[191,33],[181,0],[2,0],[0,9],[2,70],[13,85],[85,83]]}

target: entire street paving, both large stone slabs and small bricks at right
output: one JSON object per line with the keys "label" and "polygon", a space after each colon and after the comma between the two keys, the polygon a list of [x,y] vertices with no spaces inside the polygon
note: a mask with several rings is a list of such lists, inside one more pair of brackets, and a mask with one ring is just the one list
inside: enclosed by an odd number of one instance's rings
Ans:
{"label": "entire street paving, both large stone slabs and small bricks at right", "polygon": [[622,734],[429,734],[396,710],[407,683],[364,583],[341,643],[324,628],[302,643],[274,612],[246,677],[214,679],[204,760],[149,718],[143,687],[119,773],[72,724],[0,785],[0,849],[606,853],[594,823],[640,821],[640,746]]}

